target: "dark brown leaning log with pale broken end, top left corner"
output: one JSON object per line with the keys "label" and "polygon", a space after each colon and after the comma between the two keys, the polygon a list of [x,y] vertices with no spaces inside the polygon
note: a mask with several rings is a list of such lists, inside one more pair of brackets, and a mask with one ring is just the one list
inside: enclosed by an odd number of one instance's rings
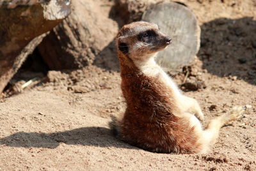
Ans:
{"label": "dark brown leaning log with pale broken end, top left corner", "polygon": [[67,0],[0,0],[0,94],[28,54],[70,13]]}

